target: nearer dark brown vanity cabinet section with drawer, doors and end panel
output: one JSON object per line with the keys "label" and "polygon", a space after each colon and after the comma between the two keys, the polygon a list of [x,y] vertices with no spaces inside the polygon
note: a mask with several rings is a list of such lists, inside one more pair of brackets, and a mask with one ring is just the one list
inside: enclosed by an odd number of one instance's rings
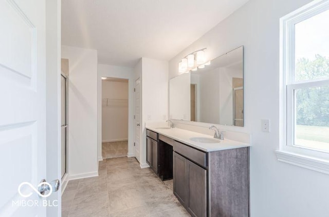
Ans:
{"label": "nearer dark brown vanity cabinet section with drawer, doors and end panel", "polygon": [[174,194],[192,216],[249,216],[249,147],[211,151],[174,142]]}

